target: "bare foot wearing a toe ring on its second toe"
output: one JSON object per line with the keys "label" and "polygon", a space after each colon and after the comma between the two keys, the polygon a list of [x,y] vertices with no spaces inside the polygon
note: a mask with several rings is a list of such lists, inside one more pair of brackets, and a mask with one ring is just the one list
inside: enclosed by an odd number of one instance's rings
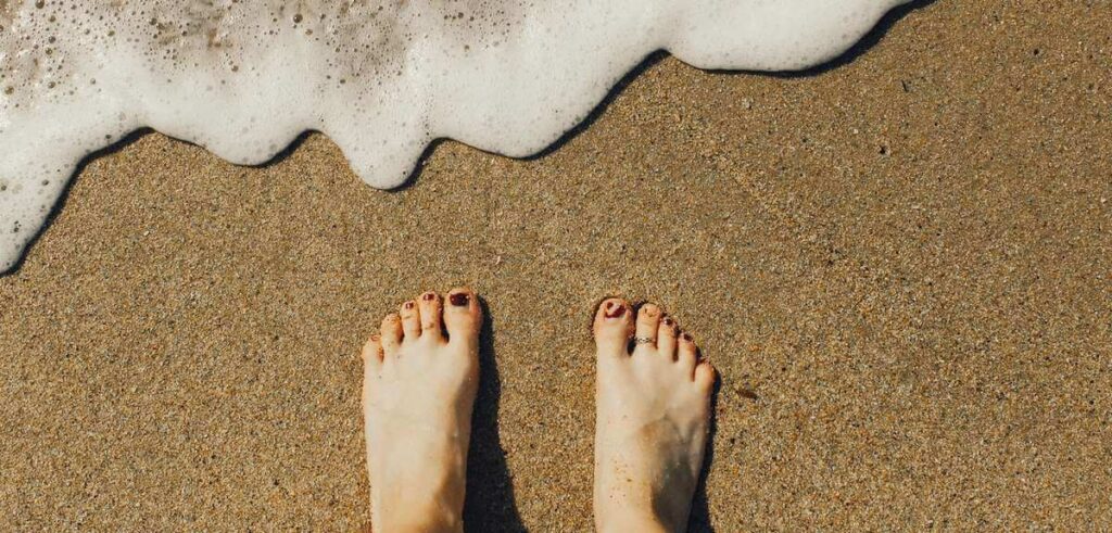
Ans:
{"label": "bare foot wearing a toe ring on its second toe", "polygon": [[[595,525],[684,531],[703,466],[714,368],[692,337],[646,304],[610,298],[595,315]],[[629,337],[635,347],[629,352]]]}

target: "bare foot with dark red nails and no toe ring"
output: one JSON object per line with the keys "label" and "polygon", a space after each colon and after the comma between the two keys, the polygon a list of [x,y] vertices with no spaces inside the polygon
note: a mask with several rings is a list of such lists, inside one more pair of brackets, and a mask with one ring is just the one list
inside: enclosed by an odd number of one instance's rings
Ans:
{"label": "bare foot with dark red nails and no toe ring", "polygon": [[425,293],[364,346],[374,531],[463,531],[481,322],[469,289]]}

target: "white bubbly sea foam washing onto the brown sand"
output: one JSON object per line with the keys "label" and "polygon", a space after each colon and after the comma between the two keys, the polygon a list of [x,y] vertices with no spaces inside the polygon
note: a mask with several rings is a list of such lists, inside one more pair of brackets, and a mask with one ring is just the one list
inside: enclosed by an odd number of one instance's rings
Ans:
{"label": "white bubbly sea foam washing onto the brown sand", "polygon": [[319,130],[391,188],[440,137],[540,151],[656,50],[803,69],[904,1],[0,0],[0,273],[141,127],[246,165]]}

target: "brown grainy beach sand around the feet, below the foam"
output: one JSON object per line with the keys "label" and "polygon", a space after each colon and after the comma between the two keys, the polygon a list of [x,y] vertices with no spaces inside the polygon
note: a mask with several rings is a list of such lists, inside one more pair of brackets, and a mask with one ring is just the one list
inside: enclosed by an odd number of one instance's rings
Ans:
{"label": "brown grainy beach sand around the feet, below the foam", "polygon": [[1112,6],[940,1],[806,76],[665,58],[528,161],[441,144],[361,185],[160,135],[93,158],[0,278],[0,522],[368,519],[358,347],[485,295],[467,517],[590,526],[587,320],[663,303],[719,368],[693,524],[1112,521]]}

